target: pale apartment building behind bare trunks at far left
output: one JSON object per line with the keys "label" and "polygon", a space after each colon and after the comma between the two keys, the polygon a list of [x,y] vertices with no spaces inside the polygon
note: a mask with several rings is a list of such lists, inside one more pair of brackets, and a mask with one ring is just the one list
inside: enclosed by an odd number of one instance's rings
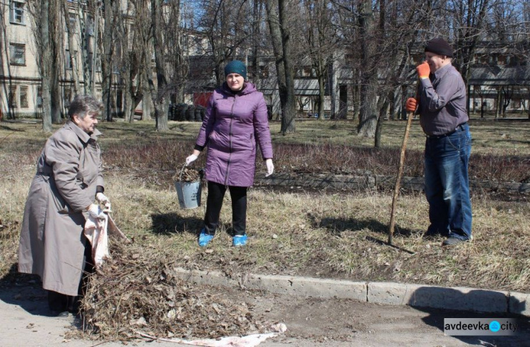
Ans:
{"label": "pale apartment building behind bare trunks at far left", "polygon": [[[83,25],[86,35],[81,36],[80,21],[78,20],[78,1],[68,1],[69,25],[65,18],[59,18],[59,37],[64,41],[62,47],[64,51],[57,54],[57,66],[59,71],[59,108],[66,114],[69,102],[73,99],[73,78],[74,74],[79,81],[81,92],[86,91],[95,97],[101,98],[101,66],[97,59],[94,59],[95,49],[95,16],[99,13],[90,13],[90,9],[83,10]],[[39,59],[40,54],[37,48],[35,36],[38,35],[35,28],[35,20],[32,17],[32,8],[25,0],[7,0],[0,4],[2,19],[0,27],[0,111],[5,117],[35,117],[42,112],[42,79],[40,77]],[[98,11],[100,9],[98,8]],[[69,30],[73,34],[73,47],[69,47]],[[84,39],[84,42],[82,40]],[[87,56],[83,57],[81,44],[86,45]],[[93,85],[86,84],[86,71],[83,71],[83,64],[77,63],[72,66],[71,55],[77,62],[88,61],[88,75],[91,80],[95,80]],[[95,71],[93,71],[95,66]],[[76,71],[73,70],[76,69]],[[90,87],[90,90],[86,90]],[[115,93],[114,93],[115,95]]]}

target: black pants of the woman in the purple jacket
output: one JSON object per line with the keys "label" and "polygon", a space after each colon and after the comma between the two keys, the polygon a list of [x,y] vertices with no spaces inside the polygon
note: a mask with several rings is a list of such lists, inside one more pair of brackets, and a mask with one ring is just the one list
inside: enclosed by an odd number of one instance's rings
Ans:
{"label": "black pants of the woman in the purple jacket", "polygon": [[[228,186],[232,198],[232,228],[234,235],[245,235],[247,230],[247,187]],[[216,233],[219,224],[220,209],[223,207],[226,185],[208,181],[208,199],[204,228],[206,233]]]}

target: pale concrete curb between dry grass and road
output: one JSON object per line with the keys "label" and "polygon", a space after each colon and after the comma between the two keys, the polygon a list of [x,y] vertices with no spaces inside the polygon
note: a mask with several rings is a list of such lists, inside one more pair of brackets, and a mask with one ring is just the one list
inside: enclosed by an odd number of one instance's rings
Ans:
{"label": "pale concrete curb between dry grass and road", "polygon": [[340,298],[386,305],[410,305],[488,313],[514,313],[530,317],[529,293],[477,288],[428,286],[392,282],[356,282],[311,277],[230,274],[216,271],[174,269],[184,281],[210,286],[230,286],[292,296]]}

